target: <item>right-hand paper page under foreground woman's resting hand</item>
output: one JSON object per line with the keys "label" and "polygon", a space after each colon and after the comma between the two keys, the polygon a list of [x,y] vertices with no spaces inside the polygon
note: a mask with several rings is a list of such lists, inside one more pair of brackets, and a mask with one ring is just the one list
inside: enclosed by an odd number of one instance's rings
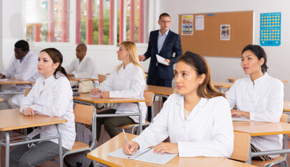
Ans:
{"label": "right-hand paper page under foreground woman's resting hand", "polygon": [[152,148],[147,152],[140,154],[138,157],[135,158],[135,160],[165,165],[168,161],[171,161],[171,159],[173,159],[176,156],[177,154],[168,154],[168,153],[154,154]]}

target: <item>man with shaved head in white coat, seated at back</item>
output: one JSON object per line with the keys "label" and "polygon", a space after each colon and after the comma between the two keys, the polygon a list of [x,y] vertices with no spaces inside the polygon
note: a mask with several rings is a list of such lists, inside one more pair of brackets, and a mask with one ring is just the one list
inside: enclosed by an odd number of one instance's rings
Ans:
{"label": "man with shaved head in white coat, seated at back", "polygon": [[[77,58],[66,67],[68,77],[99,79],[94,59],[86,56],[87,46],[79,44],[75,49],[75,54]],[[71,82],[71,86],[77,84],[78,82]],[[99,81],[94,81],[94,86],[99,86]]]}

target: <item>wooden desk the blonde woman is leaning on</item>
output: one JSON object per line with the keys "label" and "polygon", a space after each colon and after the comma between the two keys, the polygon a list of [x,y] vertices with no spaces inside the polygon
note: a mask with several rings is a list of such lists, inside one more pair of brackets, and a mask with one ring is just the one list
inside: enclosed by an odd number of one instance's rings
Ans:
{"label": "wooden desk the blonde woman is leaning on", "polygon": [[98,114],[96,113],[96,118],[104,117],[121,117],[121,116],[139,116],[139,130],[142,132],[142,112],[140,111],[139,102],[147,102],[147,100],[135,99],[135,98],[101,98],[101,97],[91,97],[89,93],[80,93],[79,96],[73,96],[73,101],[89,104],[94,106],[99,103],[133,103],[138,106],[139,113],[122,113],[122,114]]}

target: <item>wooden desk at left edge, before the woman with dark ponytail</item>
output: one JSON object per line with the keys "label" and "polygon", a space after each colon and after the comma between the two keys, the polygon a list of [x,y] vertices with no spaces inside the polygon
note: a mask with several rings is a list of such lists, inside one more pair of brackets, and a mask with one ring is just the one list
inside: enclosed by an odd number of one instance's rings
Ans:
{"label": "wooden desk at left edge, before the woman with dark ponytail", "polygon": [[[19,112],[19,109],[8,109],[8,110],[0,110],[0,132],[3,132],[6,136],[5,140],[0,141],[0,145],[6,145],[6,157],[5,157],[5,166],[9,166],[9,150],[10,146],[22,145],[32,142],[44,141],[52,138],[58,138],[59,140],[59,159],[62,159],[62,147],[61,147],[61,134],[59,129],[59,124],[66,122],[63,118],[50,117],[50,116],[24,116]],[[44,125],[56,125],[57,127],[57,136],[51,136],[48,138],[38,138],[31,141],[19,141],[15,143],[10,143],[10,130],[15,129],[23,129],[28,127],[39,127]],[[4,141],[6,141],[4,143]],[[63,166],[60,164],[60,166]]]}

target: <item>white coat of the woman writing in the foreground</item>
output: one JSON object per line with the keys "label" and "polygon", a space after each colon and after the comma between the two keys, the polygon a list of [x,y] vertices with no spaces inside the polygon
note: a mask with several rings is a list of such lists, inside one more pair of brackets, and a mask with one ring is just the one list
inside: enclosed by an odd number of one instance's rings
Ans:
{"label": "white coat of the woman writing in the foreground", "polygon": [[180,157],[230,157],[233,124],[224,97],[201,98],[184,121],[184,96],[173,94],[153,123],[133,138],[140,150],[155,146],[167,137],[177,143]]}

